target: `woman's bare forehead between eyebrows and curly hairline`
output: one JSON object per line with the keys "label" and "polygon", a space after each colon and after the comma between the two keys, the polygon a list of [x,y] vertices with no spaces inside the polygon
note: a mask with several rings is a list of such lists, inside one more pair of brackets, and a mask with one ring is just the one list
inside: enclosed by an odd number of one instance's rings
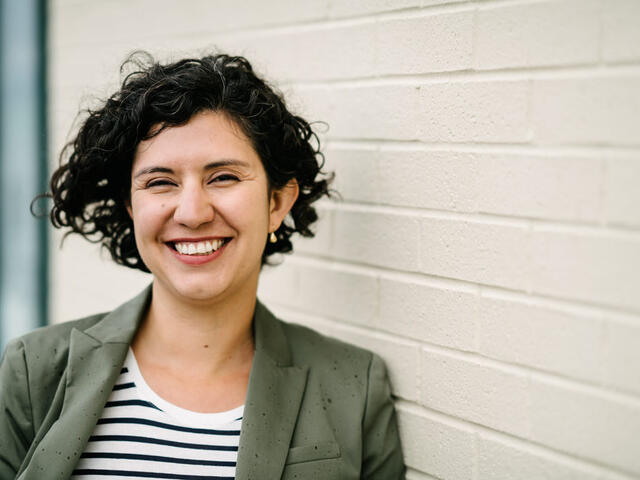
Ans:
{"label": "woman's bare forehead between eyebrows and curly hairline", "polygon": [[140,142],[133,167],[149,164],[188,167],[222,159],[261,166],[251,140],[237,123],[224,113],[207,110],[195,114],[183,125],[164,128],[154,137]]}

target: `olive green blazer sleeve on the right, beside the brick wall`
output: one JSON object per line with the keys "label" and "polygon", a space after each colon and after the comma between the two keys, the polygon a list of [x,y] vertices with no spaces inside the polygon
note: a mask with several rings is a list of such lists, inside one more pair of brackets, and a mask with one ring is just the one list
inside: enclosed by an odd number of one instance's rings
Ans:
{"label": "olive green blazer sleeve on the right, beside the brick wall", "polygon": [[375,354],[369,366],[363,435],[362,478],[404,479],[404,461],[389,378],[384,363]]}

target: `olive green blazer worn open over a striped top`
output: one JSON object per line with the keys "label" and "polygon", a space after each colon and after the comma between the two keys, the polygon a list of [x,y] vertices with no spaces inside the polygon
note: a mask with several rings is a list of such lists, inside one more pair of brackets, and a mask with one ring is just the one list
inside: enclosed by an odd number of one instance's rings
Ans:
{"label": "olive green blazer worn open over a striped top", "polygon": [[[151,297],[12,341],[0,364],[0,480],[67,479]],[[238,480],[404,478],[374,354],[277,320],[260,302]]]}

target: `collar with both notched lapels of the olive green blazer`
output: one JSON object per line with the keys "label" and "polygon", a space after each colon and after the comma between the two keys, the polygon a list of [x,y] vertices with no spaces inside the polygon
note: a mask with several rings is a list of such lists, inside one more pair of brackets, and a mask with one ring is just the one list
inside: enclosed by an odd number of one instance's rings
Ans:
{"label": "collar with both notched lapels of the olive green blazer", "polygon": [[[42,437],[21,480],[69,478],[100,418],[135,332],[151,300],[148,286],[92,327],[74,328],[62,409]],[[236,467],[237,480],[282,475],[300,409],[307,368],[292,364],[281,322],[260,302],[254,314],[255,354]],[[52,406],[55,408],[55,406]]]}

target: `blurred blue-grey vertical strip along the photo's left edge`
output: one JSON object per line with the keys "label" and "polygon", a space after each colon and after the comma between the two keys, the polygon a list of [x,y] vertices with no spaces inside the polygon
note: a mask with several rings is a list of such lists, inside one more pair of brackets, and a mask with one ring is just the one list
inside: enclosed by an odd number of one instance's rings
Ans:
{"label": "blurred blue-grey vertical strip along the photo's left edge", "polygon": [[0,342],[45,322],[46,233],[29,211],[45,163],[45,12],[0,0]]}

